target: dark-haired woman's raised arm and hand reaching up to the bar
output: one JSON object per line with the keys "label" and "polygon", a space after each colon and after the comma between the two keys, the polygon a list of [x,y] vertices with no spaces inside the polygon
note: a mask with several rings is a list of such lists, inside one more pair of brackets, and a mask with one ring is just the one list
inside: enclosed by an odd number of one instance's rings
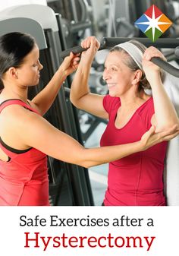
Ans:
{"label": "dark-haired woman's raised arm and hand reaching up to the bar", "polygon": [[44,115],[52,106],[61,84],[63,84],[68,74],[71,74],[77,68],[78,60],[79,58],[71,52],[71,55],[64,59],[58,71],[55,72],[49,84],[33,98],[32,102],[41,115]]}

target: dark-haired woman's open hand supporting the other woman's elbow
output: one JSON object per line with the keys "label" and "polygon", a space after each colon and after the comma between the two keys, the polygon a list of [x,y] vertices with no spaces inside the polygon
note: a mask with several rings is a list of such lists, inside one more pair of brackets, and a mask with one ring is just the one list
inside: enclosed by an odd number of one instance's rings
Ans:
{"label": "dark-haired woman's open hand supporting the other woman's elbow", "polygon": [[142,150],[147,150],[149,147],[154,146],[162,141],[170,141],[179,134],[179,126],[174,125],[172,128],[166,131],[160,131],[155,133],[155,127],[152,126],[149,131],[141,137],[140,143]]}

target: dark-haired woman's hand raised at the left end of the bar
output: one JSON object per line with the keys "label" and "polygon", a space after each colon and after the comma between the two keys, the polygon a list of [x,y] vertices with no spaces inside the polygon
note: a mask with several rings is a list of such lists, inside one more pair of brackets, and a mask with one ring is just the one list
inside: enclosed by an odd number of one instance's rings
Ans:
{"label": "dark-haired woman's hand raised at the left end of the bar", "polygon": [[68,74],[73,73],[77,69],[80,61],[79,55],[80,54],[75,55],[73,52],[71,52],[68,57],[64,58],[64,61],[58,68],[58,70],[64,74],[64,79],[68,76]]}

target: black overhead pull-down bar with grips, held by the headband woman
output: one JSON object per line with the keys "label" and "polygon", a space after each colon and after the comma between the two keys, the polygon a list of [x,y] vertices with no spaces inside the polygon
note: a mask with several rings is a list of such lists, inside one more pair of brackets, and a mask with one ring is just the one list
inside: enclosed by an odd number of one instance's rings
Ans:
{"label": "black overhead pull-down bar with grips, held by the headband woman", "polygon": [[[124,43],[129,40],[131,40],[131,39],[125,38],[125,37],[124,38],[123,37],[115,37],[115,38],[104,37],[99,50],[100,49],[108,49],[108,48],[111,48],[111,47],[117,45],[118,43]],[[158,39],[157,41],[155,41],[155,43],[153,43],[148,38],[133,37],[133,40],[137,40],[140,43],[143,43],[146,47],[149,47],[149,46],[155,46],[158,48],[175,48],[175,47],[177,47],[175,50],[175,54],[176,54],[176,56],[178,56],[179,39],[171,39],[171,38],[164,39],[164,38],[162,38],[162,39]],[[86,49],[83,49],[81,46],[75,46],[71,49],[67,49],[67,50],[61,52],[61,58],[68,56],[70,54],[70,52],[80,53],[85,50]],[[151,61],[153,63],[155,63],[156,65],[158,65],[160,68],[167,71],[168,73],[174,75],[175,77],[179,77],[179,69],[170,65],[168,62],[165,62],[161,58],[157,58],[157,57],[152,58]]]}

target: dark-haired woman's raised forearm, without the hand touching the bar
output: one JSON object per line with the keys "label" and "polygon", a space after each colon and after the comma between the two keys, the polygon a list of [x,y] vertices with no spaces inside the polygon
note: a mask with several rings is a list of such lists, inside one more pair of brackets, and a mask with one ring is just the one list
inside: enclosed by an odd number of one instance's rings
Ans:
{"label": "dark-haired woman's raised forearm, without the hand touching the bar", "polygon": [[33,103],[36,104],[42,115],[44,115],[52,106],[52,103],[61,88],[61,84],[63,84],[65,79],[66,75],[59,68],[49,84],[47,84],[46,87],[33,98]]}

